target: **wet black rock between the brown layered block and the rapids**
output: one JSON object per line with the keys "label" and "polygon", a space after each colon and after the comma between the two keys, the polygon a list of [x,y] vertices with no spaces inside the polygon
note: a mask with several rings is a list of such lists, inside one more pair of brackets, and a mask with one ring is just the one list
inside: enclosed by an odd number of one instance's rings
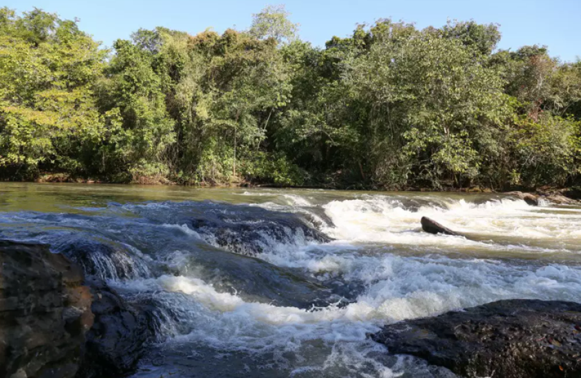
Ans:
{"label": "wet black rock between the brown layered block and the rapids", "polygon": [[149,315],[98,278],[87,278],[86,284],[94,297],[95,320],[78,377],[120,377],[133,370],[144,353],[151,337]]}

